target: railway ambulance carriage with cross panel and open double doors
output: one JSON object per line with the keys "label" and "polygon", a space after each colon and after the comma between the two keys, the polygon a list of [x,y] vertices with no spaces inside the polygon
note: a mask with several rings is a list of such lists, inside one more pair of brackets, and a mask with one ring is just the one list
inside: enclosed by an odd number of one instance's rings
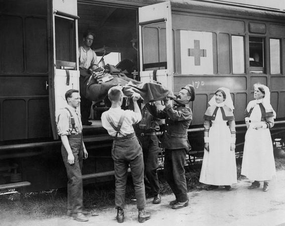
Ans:
{"label": "railway ambulance carriage with cross panel and open double doors", "polygon": [[[271,90],[273,137],[285,120],[285,12],[213,0],[0,0],[0,189],[36,191],[66,186],[56,112],[66,90],[79,89],[78,47],[95,34],[98,59],[117,54],[128,76],[147,82],[154,70],[178,93],[193,84],[192,157],[203,156],[207,102],[218,87],[231,90],[237,153],[243,151],[244,109],[253,84]],[[103,62],[103,61],[102,61]],[[84,126],[89,152],[84,183],[113,180],[112,140],[100,122]],[[199,152],[200,151],[200,152]]]}

